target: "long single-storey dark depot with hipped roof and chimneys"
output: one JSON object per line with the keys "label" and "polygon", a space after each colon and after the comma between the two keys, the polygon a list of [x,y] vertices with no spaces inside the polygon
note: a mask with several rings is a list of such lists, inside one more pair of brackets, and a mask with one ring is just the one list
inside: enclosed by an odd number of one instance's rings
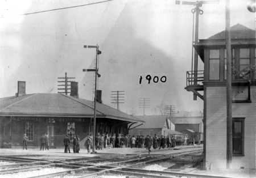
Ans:
{"label": "long single-storey dark depot with hipped roof and chimneys", "polygon": [[[143,123],[98,99],[96,133],[127,134],[131,125]],[[42,134],[49,135],[50,147],[63,146],[66,134],[78,134],[82,141],[92,133],[93,111],[93,101],[77,95],[26,94],[26,83],[19,81],[15,96],[0,99],[0,145],[20,146],[24,133],[28,146],[40,146]]]}

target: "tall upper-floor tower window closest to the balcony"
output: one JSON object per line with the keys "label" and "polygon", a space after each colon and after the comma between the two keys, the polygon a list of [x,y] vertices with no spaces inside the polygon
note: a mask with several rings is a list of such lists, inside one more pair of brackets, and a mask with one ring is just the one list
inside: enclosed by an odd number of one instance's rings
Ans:
{"label": "tall upper-floor tower window closest to the balcony", "polygon": [[209,57],[209,80],[220,79],[220,50],[211,49]]}

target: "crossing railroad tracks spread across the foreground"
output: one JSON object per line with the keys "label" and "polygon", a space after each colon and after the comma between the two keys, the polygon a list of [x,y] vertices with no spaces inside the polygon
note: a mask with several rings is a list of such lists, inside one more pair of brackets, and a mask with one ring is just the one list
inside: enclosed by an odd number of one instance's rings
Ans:
{"label": "crossing railroad tracks spread across the foreground", "polygon": [[[185,149],[184,149],[185,150]],[[143,164],[149,164],[153,162],[159,162],[164,160],[170,160],[176,158],[177,156],[184,156],[195,152],[200,152],[201,149],[190,150],[190,151],[180,151],[176,153],[169,154],[160,154],[155,156],[139,156],[139,155],[114,155],[114,156],[103,156],[97,158],[76,158],[76,159],[61,159],[61,160],[42,160],[30,163],[19,163],[13,164],[16,169],[7,169],[0,171],[0,174],[3,173],[13,173],[19,171],[31,171],[36,169],[42,169],[45,167],[63,167],[69,168],[67,171],[61,171],[56,173],[49,173],[46,175],[34,176],[30,178],[44,178],[44,177],[55,177],[63,175],[71,175],[83,177],[96,177],[105,173],[112,173],[115,175],[127,175],[127,176],[136,176],[136,177],[210,177],[210,178],[227,178],[224,176],[209,176],[195,173],[185,173],[185,172],[175,172],[175,171],[149,171],[146,169],[137,168]],[[1,159],[1,157],[0,157]],[[107,162],[102,164],[96,164],[98,162]],[[20,166],[26,166],[20,168]],[[7,167],[12,167],[6,165]],[[29,169],[27,168],[28,166]],[[0,166],[1,169],[1,166]],[[1,176],[1,175],[0,175]]]}

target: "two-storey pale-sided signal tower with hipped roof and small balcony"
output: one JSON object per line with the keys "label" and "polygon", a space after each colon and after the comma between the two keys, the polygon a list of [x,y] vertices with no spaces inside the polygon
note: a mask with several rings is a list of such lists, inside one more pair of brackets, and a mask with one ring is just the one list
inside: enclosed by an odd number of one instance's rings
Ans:
{"label": "two-storey pale-sided signal tower with hipped roof and small balcony", "polygon": [[[236,24],[232,39],[232,168],[255,169],[256,73],[255,31]],[[226,168],[225,31],[195,42],[204,70],[187,72],[188,91],[204,100],[205,166]],[[197,75],[196,75],[197,74]],[[203,94],[200,93],[203,92]]]}

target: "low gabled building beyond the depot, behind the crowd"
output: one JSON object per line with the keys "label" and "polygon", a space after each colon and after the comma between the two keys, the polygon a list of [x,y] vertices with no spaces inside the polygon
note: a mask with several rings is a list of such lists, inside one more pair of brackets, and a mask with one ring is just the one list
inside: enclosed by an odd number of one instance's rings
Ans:
{"label": "low gabled building beyond the depot, behind the crowd", "polygon": [[137,128],[130,129],[130,135],[164,135],[167,136],[171,131],[175,130],[174,123],[171,122],[170,117],[152,115],[152,116],[135,116],[139,120],[144,121],[144,124]]}

